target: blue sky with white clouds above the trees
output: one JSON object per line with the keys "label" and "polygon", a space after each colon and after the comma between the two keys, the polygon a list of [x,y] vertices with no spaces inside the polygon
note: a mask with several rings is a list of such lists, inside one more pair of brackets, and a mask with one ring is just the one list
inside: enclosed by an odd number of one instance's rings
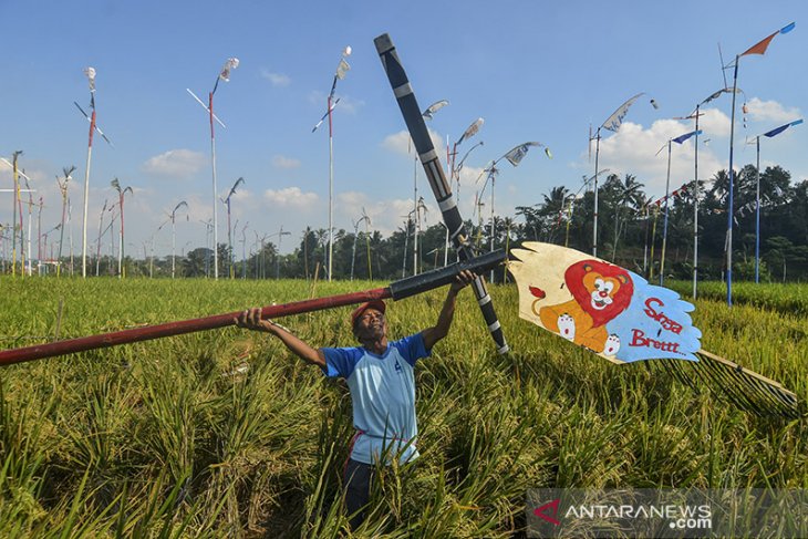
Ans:
{"label": "blue sky with white clouds above the trees", "polygon": [[[312,127],[327,110],[327,95],[342,51],[351,70],[336,85],[333,112],[333,221],[353,231],[363,213],[384,236],[402,228],[417,185],[427,213],[439,211],[419,165],[373,39],[390,33],[424,110],[449,105],[428,122],[445,155],[476,118],[485,123],[458,147],[468,155],[459,183],[459,208],[474,218],[475,195],[486,165],[528,141],[518,167],[503,160],[495,184],[495,210],[515,216],[516,206],[539,204],[556,186],[578,191],[594,174],[590,126],[597,129],[623,102],[643,92],[618,133],[602,131],[599,167],[634,175],[653,197],[665,193],[666,152],[672,137],[690,131],[697,103],[724,87],[722,61],[733,61],[767,35],[765,55],[740,59],[735,124],[736,168],[755,162],[755,135],[802,117],[808,107],[808,6],[801,1],[365,1],[262,2],[208,0],[74,2],[0,0],[0,156],[22,151],[20,168],[41,197],[41,230],[61,219],[56,177],[75,166],[69,182],[72,234],[81,251],[81,222],[89,123],[84,68],[96,70],[97,123],[114,146],[94,138],[90,167],[89,250],[94,250],[104,203],[126,196],[125,249],[142,257],[172,251],[168,215],[176,213],[177,255],[213,245],[205,221],[214,193],[207,112],[186,91],[206,99],[225,61],[240,64],[220,82],[214,111],[217,196],[231,198],[234,250],[249,256],[258,238],[290,252],[304,227],[328,228],[329,132]],[[732,71],[726,72],[732,85]],[[651,105],[654,100],[659,108]],[[747,112],[742,113],[746,104]],[[703,108],[700,177],[728,166],[731,96]],[[709,139],[705,145],[704,141]],[[793,180],[808,178],[808,127],[795,126],[760,143],[762,167],[780,165]],[[672,148],[671,189],[693,178],[693,139]],[[445,166],[445,158],[442,158]],[[12,187],[0,163],[0,189]],[[453,189],[456,189],[453,185]],[[490,211],[490,187],[483,194]],[[0,224],[12,220],[12,195],[0,191]],[[218,201],[218,238],[227,241],[227,210]],[[27,210],[25,210],[27,211]],[[112,217],[104,213],[104,227]],[[33,214],[37,237],[38,210]],[[238,220],[238,225],[236,225]],[[162,226],[163,225],[163,226]],[[162,226],[162,228],[160,228]],[[364,228],[364,224],[361,225]],[[280,236],[281,229],[290,235]],[[115,226],[117,230],[117,226]],[[116,232],[117,234],[117,232]],[[51,232],[52,243],[58,232]],[[108,235],[104,252],[110,252]],[[210,242],[210,243],[208,243]],[[7,245],[7,242],[6,242]],[[55,246],[53,247],[55,249]],[[7,247],[8,249],[8,247]],[[32,247],[35,251],[37,246]],[[133,252],[134,250],[134,252]],[[46,252],[46,250],[45,250]]]}

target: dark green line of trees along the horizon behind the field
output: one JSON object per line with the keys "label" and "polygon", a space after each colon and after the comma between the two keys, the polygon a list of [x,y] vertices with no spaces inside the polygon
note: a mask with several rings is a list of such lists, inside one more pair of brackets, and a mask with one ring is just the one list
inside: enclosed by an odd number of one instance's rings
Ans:
{"label": "dark green line of trees along the horizon behind the field", "polygon": [[[757,170],[747,165],[735,174],[733,274],[735,279],[754,279],[756,242]],[[666,200],[652,199],[644,184],[634,175],[612,174],[598,190],[598,256],[646,278],[661,269],[665,205],[667,232],[664,272],[667,278],[690,279],[693,274],[694,196],[698,197],[698,276],[719,280],[726,269],[727,196],[729,176],[718,172],[708,182],[672,186]],[[759,175],[760,199],[760,279],[798,281],[808,278],[808,180],[793,184],[790,174],[779,166],[767,167]],[[483,211],[479,211],[483,214]],[[594,195],[590,188],[578,193],[553,187],[534,205],[519,206],[514,216],[494,218],[494,247],[512,248],[522,241],[545,241],[592,251]],[[491,220],[467,220],[469,241],[480,252],[491,246]],[[454,262],[446,252],[446,229],[433,225],[418,231],[417,267],[414,262],[415,224],[410,219],[389,237],[376,231],[334,234],[333,279],[395,280]],[[255,246],[239,256],[238,247],[218,246],[220,278],[246,279],[327,279],[328,234],[323,228],[307,227],[299,245],[280,255],[271,241]],[[244,251],[244,246],[241,248]],[[92,263],[101,274],[114,274],[117,260],[102,257]],[[209,248],[196,248],[175,260],[178,277],[211,277],[214,256]],[[170,276],[172,257],[125,261],[127,276]],[[497,272],[495,279],[505,279]]]}

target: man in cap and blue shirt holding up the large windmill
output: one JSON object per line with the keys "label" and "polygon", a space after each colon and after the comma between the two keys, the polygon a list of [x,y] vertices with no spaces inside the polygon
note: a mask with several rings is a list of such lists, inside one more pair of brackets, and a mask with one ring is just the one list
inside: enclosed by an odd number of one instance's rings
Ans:
{"label": "man in cap and blue shirt holding up the large windmill", "polygon": [[401,464],[418,457],[415,362],[429,356],[435,343],[446,336],[457,292],[474,279],[473,272],[460,272],[449,287],[437,323],[393,342],[387,340],[386,305],[382,300],[363,303],[351,313],[353,334],[361,344],[354,348],[313,349],[286,328],[261,320],[257,308],[236,320],[241,328],[273,334],[303,361],[318,365],[325,376],[345,379],[356,428],[344,471],[345,508],[352,528],[364,520],[361,511],[367,504],[374,465],[382,459],[387,465],[391,457],[397,457]]}

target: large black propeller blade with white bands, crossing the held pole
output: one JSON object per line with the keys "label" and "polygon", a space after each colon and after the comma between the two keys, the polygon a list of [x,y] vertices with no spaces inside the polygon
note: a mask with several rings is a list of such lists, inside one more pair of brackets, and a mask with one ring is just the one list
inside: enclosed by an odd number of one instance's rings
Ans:
{"label": "large black propeller blade with white bands, crossing the held pole", "polygon": [[[395,52],[393,41],[389,34],[382,34],[373,40],[379,52],[379,58],[382,60],[384,71],[387,73],[390,85],[395,94],[395,100],[398,102],[404,122],[410,131],[410,136],[413,138],[413,144],[418,153],[421,164],[424,166],[424,172],[429,180],[432,193],[435,195],[435,199],[441,208],[444,224],[449,231],[452,243],[457,249],[457,253],[460,260],[468,260],[474,257],[472,246],[469,243],[468,234],[463,225],[463,218],[457,209],[457,204],[452,196],[452,188],[448,182],[446,182],[446,175],[443,172],[441,162],[437,157],[435,146],[432,144],[429,133],[426,129],[426,124],[421,115],[421,107],[415,99],[413,89],[410,85],[404,68],[398,60],[398,55]],[[474,293],[477,297],[477,303],[483,311],[488,331],[490,331],[494,341],[497,343],[497,352],[504,354],[508,352],[508,344],[505,342],[505,335],[499,324],[497,313],[494,311],[494,304],[491,303],[491,297],[486,290],[485,281],[481,277],[473,283]]]}

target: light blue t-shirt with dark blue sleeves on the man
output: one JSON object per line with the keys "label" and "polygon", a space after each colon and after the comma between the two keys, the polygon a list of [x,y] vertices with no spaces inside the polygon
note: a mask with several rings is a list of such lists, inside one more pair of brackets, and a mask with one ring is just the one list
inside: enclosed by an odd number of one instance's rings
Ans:
{"label": "light blue t-shirt with dark blue sleeves on the man", "polygon": [[398,455],[405,463],[418,457],[415,438],[415,362],[428,357],[421,333],[389,342],[377,355],[362,346],[321,349],[325,356],[323,373],[348,382],[353,404],[351,458],[374,464],[382,455],[389,462]]}

